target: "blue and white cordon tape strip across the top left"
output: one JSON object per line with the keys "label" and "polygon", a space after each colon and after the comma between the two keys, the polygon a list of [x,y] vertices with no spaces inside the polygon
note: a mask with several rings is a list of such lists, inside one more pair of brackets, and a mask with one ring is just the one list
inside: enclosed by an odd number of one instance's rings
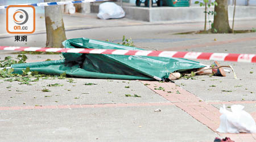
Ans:
{"label": "blue and white cordon tape strip across the top left", "polygon": [[[109,0],[82,0],[82,1],[66,1],[66,2],[40,2],[40,3],[25,3],[19,5],[31,5],[31,6],[53,6],[53,5],[69,5],[75,3],[82,3],[82,2],[102,2],[102,1],[109,1]],[[0,9],[6,9],[7,6],[0,6]]]}

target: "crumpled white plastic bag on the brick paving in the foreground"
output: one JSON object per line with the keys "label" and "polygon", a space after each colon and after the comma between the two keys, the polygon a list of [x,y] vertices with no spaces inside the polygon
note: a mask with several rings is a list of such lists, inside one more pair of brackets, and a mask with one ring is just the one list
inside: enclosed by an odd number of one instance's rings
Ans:
{"label": "crumpled white plastic bag on the brick paving in the foreground", "polygon": [[242,105],[232,105],[232,112],[226,110],[225,105],[220,108],[220,127],[217,131],[221,133],[255,133],[256,125],[251,115],[243,110]]}

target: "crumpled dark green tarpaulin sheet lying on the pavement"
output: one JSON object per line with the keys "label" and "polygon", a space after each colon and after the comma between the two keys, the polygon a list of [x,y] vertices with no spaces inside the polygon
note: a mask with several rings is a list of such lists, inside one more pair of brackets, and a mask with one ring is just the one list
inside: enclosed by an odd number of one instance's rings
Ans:
{"label": "crumpled dark green tarpaulin sheet lying on the pavement", "polygon": [[[86,38],[65,40],[63,45],[65,48],[143,50]],[[71,77],[164,80],[172,72],[204,67],[199,62],[177,58],[82,53],[62,54],[63,60],[14,64],[11,68],[14,68],[13,73],[22,73],[23,69],[29,67],[31,71],[38,71],[43,74],[60,75],[65,72],[67,76]]]}

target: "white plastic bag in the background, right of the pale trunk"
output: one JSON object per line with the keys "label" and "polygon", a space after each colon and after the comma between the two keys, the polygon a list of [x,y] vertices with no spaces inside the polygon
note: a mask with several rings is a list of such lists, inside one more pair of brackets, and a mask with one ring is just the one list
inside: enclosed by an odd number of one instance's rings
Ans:
{"label": "white plastic bag in the background, right of the pale trunk", "polygon": [[125,11],[114,2],[104,2],[100,4],[97,16],[100,19],[123,18]]}

